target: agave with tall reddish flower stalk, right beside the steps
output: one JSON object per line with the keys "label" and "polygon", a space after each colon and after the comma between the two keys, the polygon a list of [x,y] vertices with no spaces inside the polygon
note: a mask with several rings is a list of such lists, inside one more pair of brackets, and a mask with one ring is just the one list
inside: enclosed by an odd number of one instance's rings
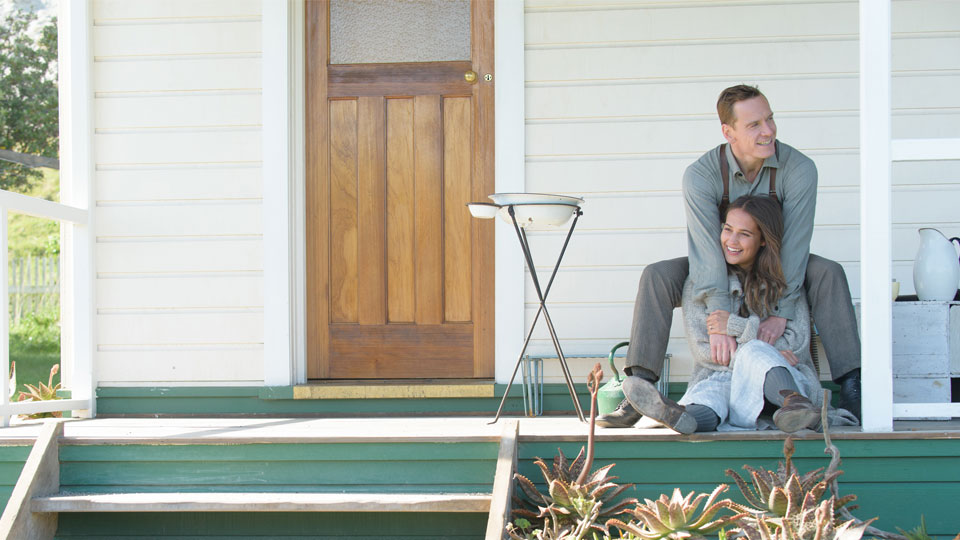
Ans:
{"label": "agave with tall reddish flower stalk, right beside the steps", "polygon": [[580,453],[571,462],[558,449],[552,467],[548,467],[540,458],[534,460],[547,485],[546,494],[541,493],[522,474],[514,475],[527,500],[517,496],[513,498],[513,515],[516,519],[513,525],[507,527],[511,538],[583,538],[591,531],[608,534],[602,520],[622,514],[637,503],[632,498],[616,502],[633,484],[618,485],[614,482],[617,477],[609,476],[613,463],[589,472],[593,466],[597,391],[602,377],[603,370],[597,364],[587,380],[591,401],[586,455],[581,447]]}

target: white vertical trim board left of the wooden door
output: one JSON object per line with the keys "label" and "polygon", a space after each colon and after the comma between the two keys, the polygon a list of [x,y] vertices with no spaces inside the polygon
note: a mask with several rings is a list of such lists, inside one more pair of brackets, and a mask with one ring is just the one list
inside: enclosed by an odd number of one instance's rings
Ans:
{"label": "white vertical trim board left of the wooden door", "polygon": [[263,0],[263,380],[306,380],[303,0]]}

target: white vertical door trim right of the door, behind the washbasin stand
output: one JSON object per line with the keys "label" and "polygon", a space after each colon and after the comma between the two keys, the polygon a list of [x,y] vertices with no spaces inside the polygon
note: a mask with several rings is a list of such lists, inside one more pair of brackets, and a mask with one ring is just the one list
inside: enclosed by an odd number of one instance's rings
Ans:
{"label": "white vertical door trim right of the door, behind the washbasin stand", "polygon": [[[499,193],[526,191],[524,172],[525,80],[523,71],[523,2],[496,0],[494,8],[494,77],[496,130],[496,190]],[[496,381],[506,384],[523,346],[523,257],[516,233],[496,223],[495,283]]]}

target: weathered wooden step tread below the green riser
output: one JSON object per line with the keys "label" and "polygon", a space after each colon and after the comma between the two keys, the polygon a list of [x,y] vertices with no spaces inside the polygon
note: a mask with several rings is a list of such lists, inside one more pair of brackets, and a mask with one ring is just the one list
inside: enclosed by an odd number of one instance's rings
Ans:
{"label": "weathered wooden step tread below the green riser", "polygon": [[98,493],[34,497],[32,512],[478,512],[488,493]]}

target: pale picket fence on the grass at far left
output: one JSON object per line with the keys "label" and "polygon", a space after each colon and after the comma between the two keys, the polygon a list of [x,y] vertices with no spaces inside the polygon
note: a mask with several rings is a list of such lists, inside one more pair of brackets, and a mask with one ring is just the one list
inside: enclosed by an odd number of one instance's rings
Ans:
{"label": "pale picket fence on the grass at far left", "polygon": [[58,309],[60,305],[60,257],[10,259],[7,274],[10,291],[10,324],[25,313]]}

